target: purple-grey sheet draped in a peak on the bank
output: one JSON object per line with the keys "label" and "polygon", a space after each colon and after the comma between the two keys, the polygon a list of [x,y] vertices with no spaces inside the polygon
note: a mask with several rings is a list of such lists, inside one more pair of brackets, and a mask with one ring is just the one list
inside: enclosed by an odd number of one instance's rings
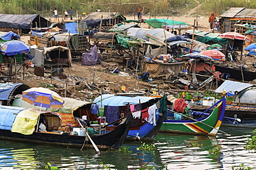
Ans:
{"label": "purple-grey sheet draped in a peak on the bank", "polygon": [[88,53],[82,54],[82,65],[96,65],[98,61],[97,46],[94,45]]}

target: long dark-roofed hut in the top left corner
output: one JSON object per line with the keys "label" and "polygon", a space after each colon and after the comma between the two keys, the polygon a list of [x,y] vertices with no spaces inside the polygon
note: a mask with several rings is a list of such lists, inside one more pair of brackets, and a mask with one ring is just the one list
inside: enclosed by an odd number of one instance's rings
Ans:
{"label": "long dark-roofed hut in the top left corner", "polygon": [[16,34],[28,34],[31,28],[45,28],[50,21],[39,14],[0,14],[0,31],[15,32]]}

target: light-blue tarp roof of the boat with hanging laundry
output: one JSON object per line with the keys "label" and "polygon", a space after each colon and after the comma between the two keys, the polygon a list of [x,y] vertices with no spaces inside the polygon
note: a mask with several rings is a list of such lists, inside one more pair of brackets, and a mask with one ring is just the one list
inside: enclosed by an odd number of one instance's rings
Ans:
{"label": "light-blue tarp roof of the boat with hanging laundry", "polygon": [[149,100],[154,99],[154,97],[147,97],[147,96],[115,96],[114,94],[103,94],[102,96],[98,96],[93,101],[100,107],[104,107],[105,105],[109,106],[123,106],[127,105],[128,103],[131,105],[136,105],[138,103],[145,103]]}

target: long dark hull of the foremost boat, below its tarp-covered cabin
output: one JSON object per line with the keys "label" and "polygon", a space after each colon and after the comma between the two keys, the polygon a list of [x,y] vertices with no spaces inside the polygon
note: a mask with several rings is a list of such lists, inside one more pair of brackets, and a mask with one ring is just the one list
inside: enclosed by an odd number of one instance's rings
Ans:
{"label": "long dark hull of the foremost boat, below its tarp-covered cabin", "polygon": [[[91,139],[99,148],[102,149],[118,149],[124,142],[129,131],[129,122],[131,116],[118,125],[113,131],[107,134],[91,136]],[[0,129],[0,138],[8,138],[11,140],[22,140],[26,142],[48,143],[51,145],[65,145],[70,147],[86,147],[93,148],[90,140],[86,140],[86,136],[72,136],[69,134],[58,134],[54,132],[40,133],[34,132],[31,135],[24,135],[12,132],[10,130]]]}

